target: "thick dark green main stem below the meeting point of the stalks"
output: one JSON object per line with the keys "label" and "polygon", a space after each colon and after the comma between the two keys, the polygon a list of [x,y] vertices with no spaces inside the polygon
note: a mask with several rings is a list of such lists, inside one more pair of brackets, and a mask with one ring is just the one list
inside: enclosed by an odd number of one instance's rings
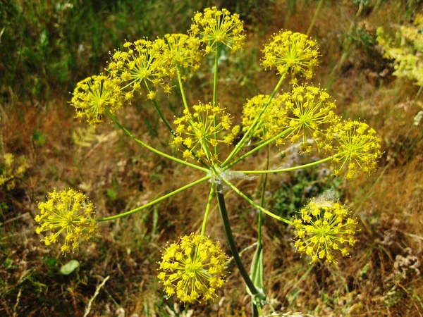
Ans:
{"label": "thick dark green main stem below the meeting point of the stalks", "polygon": [[228,218],[228,211],[226,211],[225,197],[223,196],[223,188],[219,184],[216,185],[216,195],[217,203],[219,204],[219,211],[223,221],[223,229],[225,230],[229,247],[231,247],[233,260],[235,261],[235,264],[238,267],[238,270],[240,271],[241,276],[243,277],[245,284],[247,284],[247,287],[250,290],[251,294],[253,296],[256,296],[259,294],[259,292],[257,291],[257,288],[252,282],[250,275],[248,275],[247,271],[245,271],[243,262],[241,262],[240,254],[238,253],[238,248],[236,247],[235,240],[233,239],[231,224],[229,223]]}

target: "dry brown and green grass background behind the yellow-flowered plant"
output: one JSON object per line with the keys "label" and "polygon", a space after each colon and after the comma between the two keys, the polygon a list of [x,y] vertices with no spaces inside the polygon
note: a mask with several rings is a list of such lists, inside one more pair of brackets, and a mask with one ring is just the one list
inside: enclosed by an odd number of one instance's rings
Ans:
{"label": "dry brown and green grass background behind the yellow-flowered plant", "polygon": [[[192,316],[249,315],[249,297],[239,287],[233,265],[212,305],[174,305],[173,299],[164,299],[157,282],[161,247],[200,228],[207,194],[200,187],[105,223],[99,237],[66,258],[59,247],[40,243],[34,232],[37,201],[54,187],[82,190],[97,213],[106,216],[193,180],[195,175],[185,168],[140,149],[114,125],[87,130],[73,118],[68,92],[76,82],[101,72],[109,51],[125,39],[185,32],[195,11],[216,5],[240,13],[247,29],[243,53],[221,58],[219,97],[231,113],[240,113],[246,98],[274,87],[275,76],[259,64],[264,40],[281,28],[307,32],[314,20],[310,35],[322,54],[315,84],[337,100],[338,114],[366,120],[383,140],[384,157],[370,178],[342,182],[326,168],[269,177],[266,206],[276,213],[293,213],[309,197],[332,188],[355,212],[361,231],[351,258],[329,269],[309,266],[294,253],[289,228],[266,218],[267,311],[422,316],[423,122],[414,120],[422,111],[422,97],[416,98],[419,87],[412,82],[391,75],[393,64],[381,57],[375,39],[379,26],[410,24],[422,12],[420,2],[1,0],[0,165],[3,171],[4,153],[11,153],[25,156],[29,168],[15,175],[13,188],[0,189],[0,315],[83,316],[90,299],[89,316],[188,316],[190,311]],[[192,78],[191,102],[210,99],[206,76]],[[177,100],[166,104],[169,118],[180,113]],[[160,148],[168,144],[168,134],[150,108],[140,101],[118,116]],[[296,151],[283,156],[288,163],[301,159]],[[259,168],[264,161],[255,156],[247,163]],[[272,153],[270,164],[281,166],[281,153]],[[259,195],[259,185],[259,178],[240,184],[252,197]],[[230,192],[227,196],[235,238],[247,248],[257,235],[252,229],[255,211]],[[213,219],[209,232],[224,242],[216,209]],[[248,261],[253,250],[243,253]],[[78,268],[63,274],[63,265],[72,259]]]}

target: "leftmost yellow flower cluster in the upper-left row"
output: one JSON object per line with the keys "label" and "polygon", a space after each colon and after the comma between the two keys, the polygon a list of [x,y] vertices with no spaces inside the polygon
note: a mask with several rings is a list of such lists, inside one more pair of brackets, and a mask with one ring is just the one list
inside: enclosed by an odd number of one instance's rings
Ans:
{"label": "leftmost yellow flower cluster in the upper-left row", "polygon": [[86,117],[90,125],[102,121],[105,110],[111,113],[123,106],[120,80],[104,75],[94,75],[78,82],[73,92],[71,105],[75,107],[76,118]]}

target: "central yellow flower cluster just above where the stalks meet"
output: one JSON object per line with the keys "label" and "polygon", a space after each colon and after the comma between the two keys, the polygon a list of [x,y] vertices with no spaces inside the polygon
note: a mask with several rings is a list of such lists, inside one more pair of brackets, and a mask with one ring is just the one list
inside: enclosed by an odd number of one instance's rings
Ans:
{"label": "central yellow flower cluster just above where the stalks meet", "polygon": [[[209,145],[216,147],[219,142],[232,144],[240,127],[237,125],[231,130],[232,118],[219,106],[200,102],[192,108],[194,109],[193,114],[185,109],[184,115],[173,121],[176,125],[176,137],[172,144],[178,146],[183,144],[188,148],[183,152],[185,159],[190,159],[192,154],[195,154],[197,159],[207,159],[207,161],[215,163],[217,158],[212,154]],[[216,126],[214,125],[215,120]],[[228,132],[219,138],[219,134],[223,131]],[[218,139],[216,139],[216,135],[218,135]]]}

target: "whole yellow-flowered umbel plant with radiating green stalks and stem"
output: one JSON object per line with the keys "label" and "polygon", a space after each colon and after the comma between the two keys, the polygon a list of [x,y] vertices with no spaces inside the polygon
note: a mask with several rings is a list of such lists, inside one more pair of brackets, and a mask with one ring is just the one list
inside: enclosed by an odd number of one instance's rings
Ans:
{"label": "whole yellow-flowered umbel plant with radiating green stalks and stem", "polygon": [[[176,295],[181,302],[212,302],[223,287],[228,275],[228,259],[219,242],[207,237],[207,222],[212,202],[216,198],[221,213],[227,242],[245,284],[252,297],[252,316],[262,314],[266,304],[264,290],[264,263],[262,244],[262,216],[265,214],[293,228],[295,247],[307,256],[310,263],[326,261],[336,265],[339,256],[348,256],[356,240],[357,220],[347,207],[335,199],[314,198],[295,216],[278,216],[257,203],[234,185],[233,180],[251,180],[255,175],[286,173],[313,168],[331,162],[333,174],[353,178],[376,169],[381,156],[379,138],[366,123],[342,120],[334,112],[336,105],[320,87],[307,83],[319,65],[317,42],[300,33],[281,30],[264,45],[262,65],[276,70],[278,83],[269,94],[257,94],[243,106],[242,118],[231,116],[231,106],[219,104],[219,57],[224,48],[232,54],[243,49],[245,31],[238,14],[226,9],[206,8],[192,18],[188,35],[166,35],[151,41],[147,38],[125,42],[123,51],[111,54],[106,73],[88,77],[78,83],[71,105],[78,118],[98,125],[104,118],[116,123],[123,132],[145,149],[202,173],[202,177],[188,185],[169,192],[148,204],[114,216],[96,218],[94,206],[85,195],[65,189],[49,194],[47,202],[40,203],[38,233],[51,230],[44,237],[46,244],[59,241],[66,232],[61,247],[68,254],[80,247],[97,231],[99,223],[115,220],[147,209],[195,185],[209,182],[209,198],[199,234],[180,237],[168,244],[159,262],[159,280],[168,297]],[[212,100],[188,104],[184,81],[202,66],[205,55],[214,57],[212,68]],[[281,92],[281,84],[290,78],[292,89]],[[181,96],[180,116],[168,122],[159,104],[160,97],[177,87]],[[164,94],[163,94],[164,92]],[[152,102],[172,138],[171,146],[178,147],[181,158],[166,154],[138,139],[115,116],[118,109],[130,104],[136,94]],[[237,123],[237,124],[233,124]],[[259,150],[283,149],[286,142],[298,144],[300,154],[317,154],[323,159],[300,166],[265,170],[240,170],[235,166]],[[228,147],[230,153],[223,157]],[[343,171],[346,170],[346,173]],[[243,197],[258,213],[257,250],[250,274],[240,259],[228,218],[223,193],[233,190]],[[263,186],[264,197],[265,186]]]}

